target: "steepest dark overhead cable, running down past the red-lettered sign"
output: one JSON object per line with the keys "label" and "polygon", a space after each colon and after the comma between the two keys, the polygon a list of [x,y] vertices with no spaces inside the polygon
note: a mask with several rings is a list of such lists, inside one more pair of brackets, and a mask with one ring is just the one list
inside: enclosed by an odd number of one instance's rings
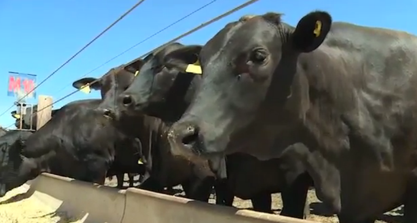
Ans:
{"label": "steepest dark overhead cable, running down past the red-lettered sign", "polygon": [[[126,15],[128,15],[131,11],[133,11],[136,7],[138,7],[138,5],[140,5],[142,2],[144,2],[145,0],[140,0],[138,1],[135,5],[133,5],[133,7],[131,7],[129,10],[127,10],[125,13],[123,13],[123,15],[121,15],[116,21],[114,21],[111,25],[109,25],[105,30],[103,30],[99,35],[97,35],[93,40],[91,40],[87,45],[85,45],[83,48],[81,48],[81,50],[79,50],[77,53],[75,53],[72,57],[70,57],[70,59],[68,59],[65,63],[63,63],[60,67],[58,67],[58,69],[56,69],[54,72],[52,72],[51,74],[48,75],[48,77],[46,77],[45,79],[43,79],[43,81],[41,81],[38,85],[36,85],[32,90],[30,90],[28,93],[25,94],[25,96],[23,96],[21,99],[19,99],[17,102],[20,102],[23,98],[25,98],[26,96],[28,96],[30,93],[32,93],[36,88],[38,88],[41,84],[43,84],[46,80],[48,80],[50,77],[52,77],[56,72],[58,72],[58,70],[60,70],[62,67],[64,67],[66,64],[68,64],[68,62],[70,62],[72,59],[74,59],[74,57],[76,57],[78,54],[80,54],[80,52],[82,52],[83,50],[85,50],[85,48],[87,48],[88,46],[90,46],[95,40],[97,40],[98,38],[100,38],[105,32],[107,32],[108,30],[111,29],[111,27],[113,27],[114,25],[116,25],[116,23],[118,23],[120,20],[122,20]],[[8,109],[6,109],[6,111],[4,111],[2,114],[0,114],[0,116],[3,116],[6,112],[8,112],[11,108],[13,108],[14,104],[12,104],[12,106],[10,106]]]}

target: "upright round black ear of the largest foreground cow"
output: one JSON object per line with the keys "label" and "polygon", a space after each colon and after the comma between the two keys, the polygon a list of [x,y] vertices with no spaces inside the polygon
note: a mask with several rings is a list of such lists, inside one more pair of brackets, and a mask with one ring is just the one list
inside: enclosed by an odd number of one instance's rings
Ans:
{"label": "upright round black ear of the largest foreground cow", "polygon": [[311,52],[319,47],[332,26],[332,17],[327,12],[310,12],[301,18],[292,33],[295,50]]}

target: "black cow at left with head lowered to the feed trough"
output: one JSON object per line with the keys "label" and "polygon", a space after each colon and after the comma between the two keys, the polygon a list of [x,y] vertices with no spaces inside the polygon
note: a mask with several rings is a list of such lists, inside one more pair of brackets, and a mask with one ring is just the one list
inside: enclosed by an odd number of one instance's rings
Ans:
{"label": "black cow at left with head lowered to the feed trough", "polygon": [[[30,135],[25,144],[12,146],[9,154],[13,156],[9,155],[8,163],[15,169],[1,171],[13,176],[0,182],[8,185],[6,192],[41,172],[100,184],[108,169],[118,165],[125,171],[143,172],[143,165],[124,163],[136,159],[137,164],[141,157],[139,144],[117,131],[102,113],[95,112],[100,103],[101,99],[71,102]],[[30,168],[19,168],[26,163]]]}

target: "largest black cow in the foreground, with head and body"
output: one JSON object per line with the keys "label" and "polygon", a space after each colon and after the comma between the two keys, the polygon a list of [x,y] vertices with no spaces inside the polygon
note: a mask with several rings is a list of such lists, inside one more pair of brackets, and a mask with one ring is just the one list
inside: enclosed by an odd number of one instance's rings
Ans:
{"label": "largest black cow in the foreground, with head and body", "polygon": [[[173,153],[279,154],[291,133],[322,156],[309,171],[341,223],[373,222],[404,204],[417,222],[417,38],[310,12],[296,27],[266,13],[226,25],[200,53],[201,90],[170,130]],[[267,145],[254,150],[247,145]],[[269,155],[268,155],[269,153]],[[272,153],[272,154],[271,154]],[[265,155],[265,154],[264,154]]]}

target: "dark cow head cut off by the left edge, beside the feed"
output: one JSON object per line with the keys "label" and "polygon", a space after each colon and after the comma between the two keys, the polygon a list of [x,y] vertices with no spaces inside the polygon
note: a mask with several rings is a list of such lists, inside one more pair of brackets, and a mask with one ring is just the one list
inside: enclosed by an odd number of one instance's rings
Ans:
{"label": "dark cow head cut off by the left edge, beside the feed", "polygon": [[30,134],[9,131],[0,138],[0,197],[38,175],[36,163],[21,154]]}

